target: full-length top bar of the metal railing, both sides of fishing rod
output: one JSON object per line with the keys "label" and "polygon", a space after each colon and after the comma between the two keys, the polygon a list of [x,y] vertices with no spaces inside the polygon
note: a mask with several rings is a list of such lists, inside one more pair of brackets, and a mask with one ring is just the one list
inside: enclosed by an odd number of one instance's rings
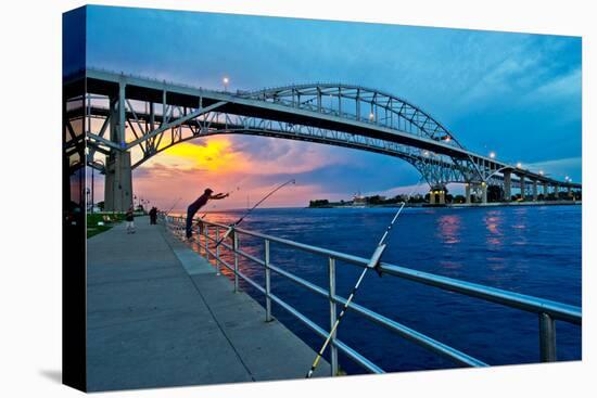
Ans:
{"label": "full-length top bar of the metal railing, both sides of fishing rod", "polygon": [[[211,226],[219,226],[223,228],[228,228],[228,226],[219,224],[215,222],[209,222],[209,221],[203,221],[203,222]],[[296,247],[309,253],[320,254],[322,256],[331,256],[339,260],[356,264],[361,267],[366,267],[369,261],[368,259],[363,257],[346,255],[343,253],[333,252],[333,251],[320,248],[317,246],[297,243],[297,242],[276,237],[276,236],[270,236],[258,232],[246,231],[240,228],[237,228],[236,231],[239,233],[243,233],[243,234],[247,234],[256,237],[267,239],[271,242],[281,243],[281,244]],[[414,282],[435,286],[442,290],[457,292],[460,294],[465,294],[467,296],[481,298],[487,301],[518,308],[529,312],[548,313],[555,319],[559,319],[559,320],[567,321],[574,324],[582,324],[582,310],[580,307],[576,307],[576,306],[561,304],[561,303],[548,300],[548,299],[542,299],[538,297],[504,291],[500,288],[484,286],[472,282],[460,281],[460,280],[447,278],[447,277],[440,277],[440,275],[435,275],[423,271],[416,271],[409,268],[399,267],[399,266],[395,266],[386,262],[382,262],[380,265],[380,271],[394,277],[408,279]]]}

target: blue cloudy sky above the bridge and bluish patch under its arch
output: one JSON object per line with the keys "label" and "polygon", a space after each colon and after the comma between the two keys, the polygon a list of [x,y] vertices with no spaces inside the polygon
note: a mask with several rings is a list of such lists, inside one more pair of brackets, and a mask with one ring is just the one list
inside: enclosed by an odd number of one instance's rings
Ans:
{"label": "blue cloudy sky above the bridge and bluish patch under its arch", "polygon": [[[87,15],[89,66],[213,89],[225,75],[232,90],[354,82],[420,106],[469,150],[555,178],[582,177],[580,38],[105,7]],[[255,159],[284,149],[329,158],[300,175],[321,194],[390,192],[419,178],[405,162],[377,154],[232,142]]]}

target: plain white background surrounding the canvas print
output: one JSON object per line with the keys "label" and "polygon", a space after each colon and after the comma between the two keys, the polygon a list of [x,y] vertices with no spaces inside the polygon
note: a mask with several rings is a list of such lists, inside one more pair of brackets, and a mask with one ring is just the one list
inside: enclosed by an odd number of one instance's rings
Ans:
{"label": "plain white background surrounding the canvas print", "polygon": [[[595,223],[592,171],[596,28],[588,1],[94,1],[257,15],[363,21],[583,36],[583,362],[488,370],[412,372],[309,382],[276,382],[112,393],[126,397],[586,396],[595,390]],[[55,381],[61,368],[61,13],[79,1],[3,4],[2,176],[0,216],[0,394],[76,396]],[[8,89],[8,90],[7,90]],[[35,115],[31,117],[31,115]],[[594,175],[593,175],[594,176]],[[593,338],[590,338],[593,336]],[[595,373],[595,372],[593,372]],[[54,375],[52,377],[52,375]],[[584,394],[583,394],[584,393]]]}

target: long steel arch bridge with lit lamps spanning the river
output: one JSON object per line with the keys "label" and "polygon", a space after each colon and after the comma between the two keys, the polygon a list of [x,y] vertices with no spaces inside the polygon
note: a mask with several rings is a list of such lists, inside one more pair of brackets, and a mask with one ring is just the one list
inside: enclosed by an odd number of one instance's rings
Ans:
{"label": "long steel arch bridge with lit lamps spanning the river", "polygon": [[[390,93],[360,86],[313,84],[258,91],[214,91],[88,68],[65,79],[66,151],[78,152],[105,178],[105,208],[132,204],[131,170],[178,143],[214,134],[252,134],[316,142],[399,157],[444,203],[448,183],[487,202],[497,185],[505,201],[582,187],[468,151],[429,113]],[[71,93],[71,94],[68,94]],[[84,110],[80,110],[84,107]],[[82,112],[81,112],[82,111]],[[84,134],[75,133],[78,126]],[[86,150],[87,147],[87,150]],[[86,151],[86,153],[84,153]],[[131,152],[136,156],[131,157]],[[96,161],[98,153],[105,164]]]}

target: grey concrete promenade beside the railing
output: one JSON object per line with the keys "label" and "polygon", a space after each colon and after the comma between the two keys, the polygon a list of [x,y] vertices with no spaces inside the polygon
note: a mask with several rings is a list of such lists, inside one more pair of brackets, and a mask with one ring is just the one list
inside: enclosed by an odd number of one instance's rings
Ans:
{"label": "grey concrete promenade beside the railing", "polygon": [[90,391],[304,377],[313,349],[162,226],[135,223],[87,241]]}

